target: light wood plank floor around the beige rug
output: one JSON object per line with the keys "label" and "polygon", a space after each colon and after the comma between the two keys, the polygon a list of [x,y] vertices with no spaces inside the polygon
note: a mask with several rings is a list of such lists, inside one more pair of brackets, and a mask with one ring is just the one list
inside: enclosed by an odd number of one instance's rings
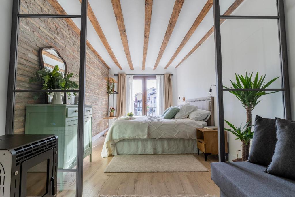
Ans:
{"label": "light wood plank floor around the beige rug", "polygon": [[[217,156],[209,155],[205,162],[203,154],[195,155],[209,172],[104,173],[104,169],[112,160],[112,156],[101,158],[104,139],[105,137],[100,137],[93,142],[92,162],[89,162],[89,157],[84,159],[83,197],[97,194],[219,196],[219,188],[211,180],[210,169],[210,163],[218,161]],[[73,180],[73,175],[69,176],[69,179]],[[68,185],[70,186],[65,187],[62,192],[58,192],[58,197],[75,196],[75,184]]]}

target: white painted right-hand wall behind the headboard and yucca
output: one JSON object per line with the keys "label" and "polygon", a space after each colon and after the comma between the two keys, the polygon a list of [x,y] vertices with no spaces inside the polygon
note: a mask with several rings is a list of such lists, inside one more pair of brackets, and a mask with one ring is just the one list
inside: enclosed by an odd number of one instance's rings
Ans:
{"label": "white painted right-hand wall behind the headboard and yucca", "polygon": [[[267,8],[261,2],[245,1],[236,10],[234,14],[260,14],[259,10],[253,8]],[[286,2],[287,26],[294,18],[294,1]],[[289,11],[292,9],[293,13]],[[263,12],[264,12],[263,11]],[[294,24],[287,28],[290,35],[294,35]],[[280,76],[280,59],[278,48],[278,30],[276,21],[271,20],[227,20],[222,24],[222,67],[223,84],[230,86],[230,80],[235,80],[235,73],[245,74],[246,71],[260,74],[266,74],[266,81]],[[289,38],[289,42],[294,38]],[[292,44],[289,44],[292,46]],[[293,44],[294,45],[294,44]],[[292,46],[293,47],[293,46]],[[289,47],[289,53],[293,49]],[[294,50],[295,51],[295,50]],[[293,54],[294,54],[293,51]],[[289,55],[289,58],[294,57]],[[291,77],[292,63],[290,61],[290,83],[293,87],[292,101],[294,104],[295,81]],[[183,64],[177,69],[178,93],[184,94],[187,99],[204,97],[209,92],[211,84],[216,84],[215,78],[215,54],[214,54],[214,35],[211,35],[201,47],[199,47]],[[292,81],[293,80],[293,81]],[[293,84],[293,85],[292,85]],[[280,80],[274,82],[270,88],[281,87]],[[213,94],[216,95],[216,89],[213,88]],[[216,109],[216,101],[215,101]],[[294,105],[293,105],[294,109]],[[214,114],[215,124],[217,125],[217,114]],[[261,97],[261,102],[253,110],[253,119],[255,115],[268,118],[283,117],[283,105],[281,93],[275,93]],[[229,92],[224,92],[224,117],[231,123],[239,126],[242,121],[246,121],[246,112],[241,103]],[[226,127],[228,127],[226,125]],[[228,134],[230,160],[235,159],[236,151],[241,149],[241,142],[235,140],[235,136]]]}

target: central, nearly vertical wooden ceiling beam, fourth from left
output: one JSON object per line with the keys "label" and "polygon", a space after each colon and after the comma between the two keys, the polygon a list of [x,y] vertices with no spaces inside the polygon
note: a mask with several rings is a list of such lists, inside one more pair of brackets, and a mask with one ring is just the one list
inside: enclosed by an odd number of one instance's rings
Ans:
{"label": "central, nearly vertical wooden ceiling beam, fourth from left", "polygon": [[150,36],[150,20],[152,18],[153,0],[145,0],[145,34],[143,43],[143,56],[142,56],[142,70],[145,69],[145,61],[148,53],[148,38]]}

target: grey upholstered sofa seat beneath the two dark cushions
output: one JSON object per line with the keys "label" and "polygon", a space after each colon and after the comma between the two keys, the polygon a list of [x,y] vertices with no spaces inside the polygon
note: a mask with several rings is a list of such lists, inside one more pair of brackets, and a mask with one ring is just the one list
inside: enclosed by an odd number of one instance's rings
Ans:
{"label": "grey upholstered sofa seat beneath the two dark cushions", "polygon": [[211,163],[211,178],[228,197],[294,196],[295,181],[265,173],[250,162]]}

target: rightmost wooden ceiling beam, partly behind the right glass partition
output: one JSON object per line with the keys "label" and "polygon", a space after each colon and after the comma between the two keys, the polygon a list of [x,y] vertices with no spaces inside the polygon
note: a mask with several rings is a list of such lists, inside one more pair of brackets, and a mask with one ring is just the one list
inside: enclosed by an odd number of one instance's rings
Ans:
{"label": "rightmost wooden ceiling beam, partly behind the right glass partition", "polygon": [[[231,15],[232,12],[235,11],[235,9],[237,9],[237,7],[243,2],[244,0],[235,0],[235,2],[233,2],[233,4],[227,9],[226,12],[224,12],[223,15]],[[220,25],[225,21],[226,19],[220,19]],[[175,66],[175,68],[178,68],[178,66],[180,66],[192,53],[194,53],[194,51],[197,50],[197,48],[199,48],[209,37],[210,35],[212,35],[212,33],[214,33],[214,26],[211,27],[211,29],[204,35],[204,37],[196,44],[196,46],[194,46],[194,48],[179,62],[179,64],[177,64],[177,66]]]}

